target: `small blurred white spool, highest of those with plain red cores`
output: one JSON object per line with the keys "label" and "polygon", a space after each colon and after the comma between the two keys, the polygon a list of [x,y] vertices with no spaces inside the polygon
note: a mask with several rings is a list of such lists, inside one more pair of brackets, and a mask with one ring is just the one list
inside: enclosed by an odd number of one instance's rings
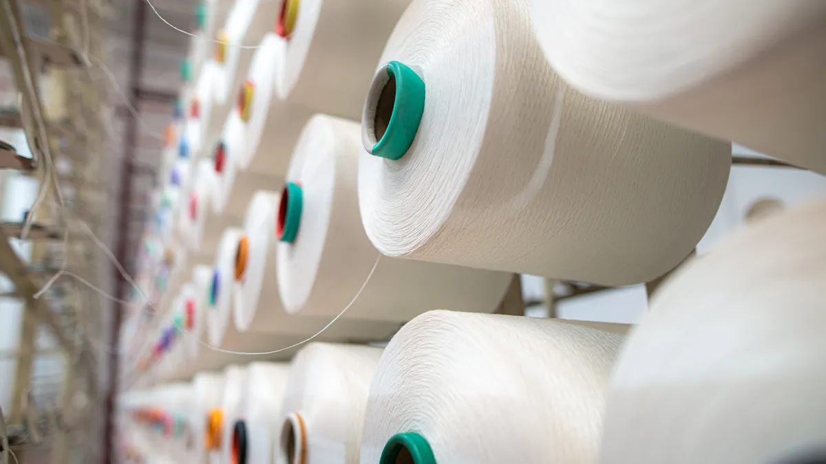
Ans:
{"label": "small blurred white spool, highest of those with plain red cores", "polygon": [[212,146],[230,111],[230,105],[216,102],[216,87],[220,83],[218,65],[211,61],[204,64],[187,109],[185,134],[192,159],[203,156],[202,149]]}

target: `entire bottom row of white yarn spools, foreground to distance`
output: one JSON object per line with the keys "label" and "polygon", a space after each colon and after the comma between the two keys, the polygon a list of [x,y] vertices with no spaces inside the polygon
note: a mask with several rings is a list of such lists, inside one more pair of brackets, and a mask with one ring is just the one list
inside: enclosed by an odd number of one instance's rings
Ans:
{"label": "entire bottom row of white yarn spools, foreground to distance", "polygon": [[[121,395],[134,462],[822,462],[826,201],[688,264],[632,332],[430,311]],[[778,428],[778,424],[783,427]],[[135,452],[140,449],[142,452]]]}

